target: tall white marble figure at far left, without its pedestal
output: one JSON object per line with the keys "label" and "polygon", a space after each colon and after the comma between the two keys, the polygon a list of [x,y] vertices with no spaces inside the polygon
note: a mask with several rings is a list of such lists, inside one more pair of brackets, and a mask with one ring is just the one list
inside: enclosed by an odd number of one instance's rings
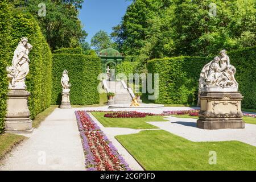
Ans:
{"label": "tall white marble figure at far left, without its pedestal", "polygon": [[32,47],[28,39],[23,37],[15,49],[12,65],[6,68],[10,80],[9,89],[26,89],[25,80],[30,70],[28,53]]}

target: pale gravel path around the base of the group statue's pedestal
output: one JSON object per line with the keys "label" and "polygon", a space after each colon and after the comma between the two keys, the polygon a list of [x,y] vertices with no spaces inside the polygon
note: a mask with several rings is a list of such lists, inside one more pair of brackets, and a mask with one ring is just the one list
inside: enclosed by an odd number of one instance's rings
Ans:
{"label": "pale gravel path around the base of the group statue's pedestal", "polygon": [[170,122],[147,122],[193,142],[238,140],[256,146],[256,125],[245,123],[245,129],[203,130],[196,119],[168,117]]}

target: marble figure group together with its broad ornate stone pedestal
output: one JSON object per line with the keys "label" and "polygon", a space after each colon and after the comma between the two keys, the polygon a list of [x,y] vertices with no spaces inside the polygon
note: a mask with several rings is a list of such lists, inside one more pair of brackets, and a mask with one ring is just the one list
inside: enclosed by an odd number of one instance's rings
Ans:
{"label": "marble figure group together with its broad ornate stone pedestal", "polygon": [[241,100],[236,68],[230,65],[226,50],[206,64],[199,78],[201,106],[197,127],[201,129],[242,129]]}

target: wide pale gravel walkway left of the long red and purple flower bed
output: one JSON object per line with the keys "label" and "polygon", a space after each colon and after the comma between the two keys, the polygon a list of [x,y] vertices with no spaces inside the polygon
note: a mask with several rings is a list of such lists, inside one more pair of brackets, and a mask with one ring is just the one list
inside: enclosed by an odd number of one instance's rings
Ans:
{"label": "wide pale gravel walkway left of the long red and purple flower bed", "polygon": [[85,170],[73,109],[55,109],[26,137],[1,162],[0,170]]}

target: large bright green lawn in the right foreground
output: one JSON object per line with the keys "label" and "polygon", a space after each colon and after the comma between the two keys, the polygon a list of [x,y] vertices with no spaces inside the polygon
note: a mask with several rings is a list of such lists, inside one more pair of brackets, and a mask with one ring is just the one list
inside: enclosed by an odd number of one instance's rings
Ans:
{"label": "large bright green lawn in the right foreground", "polygon": [[[191,142],[164,130],[116,138],[146,170],[256,169],[256,147],[242,142]],[[210,151],[217,153],[216,165],[208,163]]]}

